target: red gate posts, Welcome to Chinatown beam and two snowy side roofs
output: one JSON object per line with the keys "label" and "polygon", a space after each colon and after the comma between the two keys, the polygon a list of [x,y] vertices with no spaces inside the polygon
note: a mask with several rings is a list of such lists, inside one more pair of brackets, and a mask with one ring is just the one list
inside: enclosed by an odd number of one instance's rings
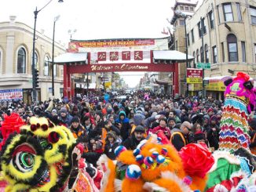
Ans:
{"label": "red gate posts, Welcome to Chinatown beam and two snowy side roofs", "polygon": [[[64,65],[64,97],[71,99],[75,88],[71,84],[71,74],[101,72],[172,72],[173,93],[178,93],[178,63],[185,61],[185,54],[177,51],[151,51],[150,63],[90,63],[90,53],[65,53],[56,57],[57,64]],[[192,60],[189,56],[188,60]]]}

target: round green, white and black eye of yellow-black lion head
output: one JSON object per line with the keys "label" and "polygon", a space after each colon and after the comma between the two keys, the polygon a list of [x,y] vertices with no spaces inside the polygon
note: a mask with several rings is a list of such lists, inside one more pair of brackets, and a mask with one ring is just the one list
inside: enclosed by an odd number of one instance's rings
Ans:
{"label": "round green, white and black eye of yellow-black lion head", "polygon": [[11,163],[20,172],[29,172],[35,165],[35,154],[20,151],[13,157]]}

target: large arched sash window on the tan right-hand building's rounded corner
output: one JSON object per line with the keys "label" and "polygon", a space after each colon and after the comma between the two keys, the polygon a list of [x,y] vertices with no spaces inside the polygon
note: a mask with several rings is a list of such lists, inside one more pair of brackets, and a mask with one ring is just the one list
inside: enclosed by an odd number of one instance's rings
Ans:
{"label": "large arched sash window on the tan right-hand building's rounded corner", "polygon": [[235,34],[228,34],[229,61],[238,61],[237,39]]}

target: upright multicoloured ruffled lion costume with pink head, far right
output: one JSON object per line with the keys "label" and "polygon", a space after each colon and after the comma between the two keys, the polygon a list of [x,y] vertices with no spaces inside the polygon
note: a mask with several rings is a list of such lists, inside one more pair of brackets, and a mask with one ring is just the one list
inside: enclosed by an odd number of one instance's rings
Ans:
{"label": "upright multicoloured ruffled lion costume with pink head, far right", "polygon": [[236,78],[226,80],[225,86],[219,150],[213,154],[215,163],[210,169],[206,191],[249,191],[252,183],[256,186],[256,163],[249,147],[248,126],[256,99],[253,80],[239,72]]}

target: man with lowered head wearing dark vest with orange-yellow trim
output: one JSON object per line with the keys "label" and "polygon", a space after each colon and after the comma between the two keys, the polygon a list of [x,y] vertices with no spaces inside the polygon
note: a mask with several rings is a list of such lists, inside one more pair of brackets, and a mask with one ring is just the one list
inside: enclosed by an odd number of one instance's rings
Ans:
{"label": "man with lowered head wearing dark vest with orange-yellow trim", "polygon": [[191,124],[184,121],[180,129],[174,128],[171,132],[170,142],[174,145],[176,150],[181,150],[182,147],[188,144],[188,134],[191,131]]}

